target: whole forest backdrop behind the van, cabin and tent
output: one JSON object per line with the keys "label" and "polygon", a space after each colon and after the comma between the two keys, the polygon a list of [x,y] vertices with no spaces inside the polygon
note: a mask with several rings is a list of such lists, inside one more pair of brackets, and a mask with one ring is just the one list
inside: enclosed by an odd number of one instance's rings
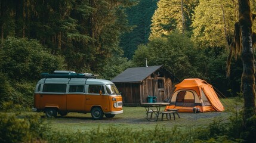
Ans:
{"label": "whole forest backdrop behind the van, cabin and tent", "polygon": [[[180,81],[200,78],[226,97],[240,95],[240,57],[226,76],[236,1],[1,0],[0,8],[1,108],[6,101],[32,107],[42,72],[73,70],[111,80],[128,67],[145,66],[145,58]],[[251,8],[255,13],[255,1]]]}

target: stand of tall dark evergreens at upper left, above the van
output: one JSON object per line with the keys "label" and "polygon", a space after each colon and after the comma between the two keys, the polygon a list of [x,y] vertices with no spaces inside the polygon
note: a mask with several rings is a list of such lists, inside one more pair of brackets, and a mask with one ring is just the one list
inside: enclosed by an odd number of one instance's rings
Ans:
{"label": "stand of tall dark evergreens at upper left, above the van", "polygon": [[[54,55],[64,55],[70,70],[100,70],[121,54],[120,36],[128,31],[125,8],[131,0],[1,0],[1,39],[38,39]],[[1,41],[2,41],[1,40]]]}

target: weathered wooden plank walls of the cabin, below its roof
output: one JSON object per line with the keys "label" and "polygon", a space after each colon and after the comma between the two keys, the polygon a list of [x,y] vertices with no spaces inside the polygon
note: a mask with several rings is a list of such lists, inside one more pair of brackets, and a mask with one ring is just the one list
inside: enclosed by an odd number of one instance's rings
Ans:
{"label": "weathered wooden plank walls of the cabin, below its roof", "polygon": [[[158,88],[159,80],[163,80],[163,88]],[[164,72],[164,76],[159,77],[156,71],[140,83],[115,83],[115,85],[122,92],[124,105],[140,105],[141,102],[147,102],[149,95],[162,102],[172,94],[172,81],[168,72]]]}

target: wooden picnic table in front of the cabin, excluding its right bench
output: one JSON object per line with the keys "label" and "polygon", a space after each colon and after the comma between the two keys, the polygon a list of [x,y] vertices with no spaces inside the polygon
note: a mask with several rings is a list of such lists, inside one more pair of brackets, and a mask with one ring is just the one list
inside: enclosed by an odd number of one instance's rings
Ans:
{"label": "wooden picnic table in front of the cabin, excluding its right bench", "polygon": [[148,121],[158,121],[158,116],[161,113],[161,107],[169,105],[169,102],[147,102],[141,103],[142,107],[146,109],[146,115]]}

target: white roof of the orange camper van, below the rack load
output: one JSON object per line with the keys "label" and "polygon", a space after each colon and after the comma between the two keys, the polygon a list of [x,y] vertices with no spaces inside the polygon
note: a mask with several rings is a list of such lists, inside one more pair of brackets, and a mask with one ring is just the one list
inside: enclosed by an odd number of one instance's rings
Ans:
{"label": "white roof of the orange camper van, below the rack load", "polygon": [[113,84],[113,82],[106,79],[81,79],[81,78],[44,78],[38,81],[38,83],[62,83],[62,84],[90,84],[90,85],[107,85]]}

